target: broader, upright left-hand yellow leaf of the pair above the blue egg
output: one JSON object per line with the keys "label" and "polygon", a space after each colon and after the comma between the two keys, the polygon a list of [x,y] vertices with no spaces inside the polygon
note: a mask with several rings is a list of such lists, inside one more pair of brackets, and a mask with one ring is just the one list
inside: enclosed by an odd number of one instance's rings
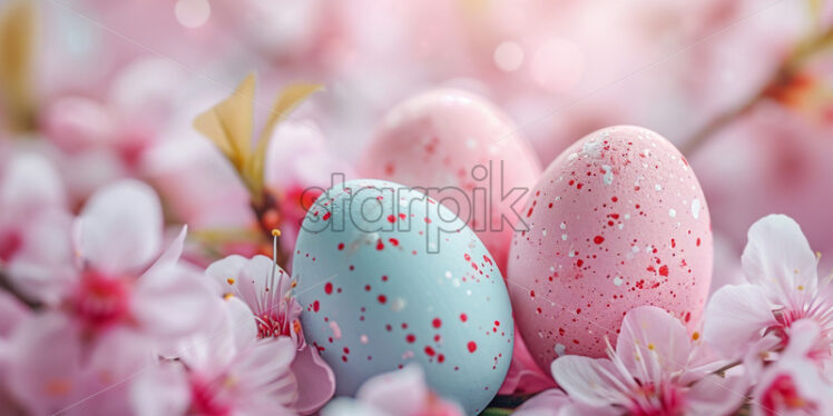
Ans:
{"label": "broader, upright left-hand yellow leaf of the pair above the blue egg", "polygon": [[194,128],[208,137],[241,174],[252,153],[254,97],[255,76],[249,73],[231,97],[194,120]]}

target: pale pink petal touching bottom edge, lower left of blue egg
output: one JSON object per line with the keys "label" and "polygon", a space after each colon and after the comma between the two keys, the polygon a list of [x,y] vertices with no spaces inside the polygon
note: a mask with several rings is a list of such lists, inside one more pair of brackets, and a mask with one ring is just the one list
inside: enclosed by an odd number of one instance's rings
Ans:
{"label": "pale pink petal touching bottom edge, lower left of blue egg", "polygon": [[182,364],[161,363],[140,374],[130,387],[130,405],[136,416],[185,415],[190,389]]}

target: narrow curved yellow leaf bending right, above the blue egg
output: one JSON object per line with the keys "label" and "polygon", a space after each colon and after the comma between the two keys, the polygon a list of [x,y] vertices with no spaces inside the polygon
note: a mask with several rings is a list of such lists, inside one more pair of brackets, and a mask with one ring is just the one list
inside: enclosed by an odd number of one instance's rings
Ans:
{"label": "narrow curved yellow leaf bending right, above the blue egg", "polygon": [[284,88],[272,107],[266,125],[261,131],[261,136],[257,140],[257,148],[252,152],[251,158],[246,162],[245,176],[252,188],[259,192],[263,190],[263,177],[266,165],[266,150],[268,148],[272,133],[275,130],[275,126],[281,122],[286,115],[292,112],[297,106],[300,106],[307,97],[314,92],[323,89],[323,86],[317,83],[293,83]]}

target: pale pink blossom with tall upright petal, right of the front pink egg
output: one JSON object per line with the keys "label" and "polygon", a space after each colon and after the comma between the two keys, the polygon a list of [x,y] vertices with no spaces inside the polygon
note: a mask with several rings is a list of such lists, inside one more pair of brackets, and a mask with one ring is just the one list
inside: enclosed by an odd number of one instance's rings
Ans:
{"label": "pale pink blossom with tall upright petal, right of the front pink egg", "polygon": [[[725,286],[713,295],[705,313],[706,343],[728,358],[753,348],[777,350],[790,343],[795,321],[810,319],[821,328],[812,355],[820,363],[827,360],[833,343],[833,286],[830,279],[819,279],[817,261],[792,218],[771,215],[755,222],[742,257],[748,283]],[[771,336],[764,338],[764,334]]]}

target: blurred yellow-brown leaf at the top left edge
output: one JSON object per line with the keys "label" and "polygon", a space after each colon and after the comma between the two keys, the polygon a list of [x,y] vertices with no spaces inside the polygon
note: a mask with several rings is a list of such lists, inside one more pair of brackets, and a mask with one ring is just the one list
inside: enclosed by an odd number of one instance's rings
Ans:
{"label": "blurred yellow-brown leaf at the top left edge", "polygon": [[30,130],[35,126],[32,55],[36,9],[29,0],[13,0],[0,16],[0,100],[9,127]]}

